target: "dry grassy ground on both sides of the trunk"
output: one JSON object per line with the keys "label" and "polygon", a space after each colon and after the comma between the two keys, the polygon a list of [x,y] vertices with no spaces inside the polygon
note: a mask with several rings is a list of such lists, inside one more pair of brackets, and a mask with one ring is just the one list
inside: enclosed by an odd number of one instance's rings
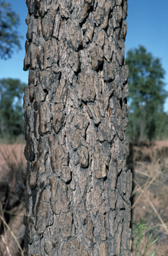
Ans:
{"label": "dry grassy ground on both sides of the trunk", "polygon": [[[0,255],[5,256],[23,255],[24,250],[24,147],[0,145]],[[147,227],[153,228],[153,240],[159,236],[147,255],[155,250],[155,256],[168,255],[168,141],[131,145],[127,165],[133,171],[132,221],[148,220]],[[143,241],[141,252],[144,245]],[[135,248],[134,242],[132,247]]]}

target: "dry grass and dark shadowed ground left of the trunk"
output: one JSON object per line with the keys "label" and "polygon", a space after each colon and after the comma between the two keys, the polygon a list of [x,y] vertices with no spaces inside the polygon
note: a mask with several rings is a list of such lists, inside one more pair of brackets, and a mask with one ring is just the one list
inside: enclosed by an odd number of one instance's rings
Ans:
{"label": "dry grass and dark shadowed ground left of the trunk", "polygon": [[25,145],[0,145],[0,255],[23,255]]}

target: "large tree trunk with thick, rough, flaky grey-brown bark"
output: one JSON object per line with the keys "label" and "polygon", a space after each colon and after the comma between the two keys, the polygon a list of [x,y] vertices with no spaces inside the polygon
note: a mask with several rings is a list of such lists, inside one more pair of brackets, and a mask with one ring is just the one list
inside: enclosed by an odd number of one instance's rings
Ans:
{"label": "large tree trunk with thick, rough, flaky grey-brown bark", "polygon": [[27,0],[25,255],[130,255],[126,0]]}

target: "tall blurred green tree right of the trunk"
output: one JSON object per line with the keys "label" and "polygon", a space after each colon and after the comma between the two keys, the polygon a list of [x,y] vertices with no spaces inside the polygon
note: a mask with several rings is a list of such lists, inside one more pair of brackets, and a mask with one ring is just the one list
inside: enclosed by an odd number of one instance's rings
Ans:
{"label": "tall blurred green tree right of the trunk", "polygon": [[129,50],[129,126],[127,134],[134,140],[144,141],[157,137],[157,122],[163,113],[167,97],[163,78],[165,71],[161,61],[143,46]]}

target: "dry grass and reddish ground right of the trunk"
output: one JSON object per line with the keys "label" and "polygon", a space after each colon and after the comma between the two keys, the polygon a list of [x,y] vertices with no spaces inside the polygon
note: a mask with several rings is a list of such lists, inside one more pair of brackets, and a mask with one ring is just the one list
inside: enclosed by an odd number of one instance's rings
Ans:
{"label": "dry grass and reddish ground right of the trunk", "polygon": [[[133,168],[132,221],[148,220],[147,227],[153,228],[153,240],[159,236],[148,255],[153,251],[155,256],[168,255],[168,141],[133,147]],[[146,233],[148,237],[149,233]],[[145,239],[141,252],[144,245]]]}

